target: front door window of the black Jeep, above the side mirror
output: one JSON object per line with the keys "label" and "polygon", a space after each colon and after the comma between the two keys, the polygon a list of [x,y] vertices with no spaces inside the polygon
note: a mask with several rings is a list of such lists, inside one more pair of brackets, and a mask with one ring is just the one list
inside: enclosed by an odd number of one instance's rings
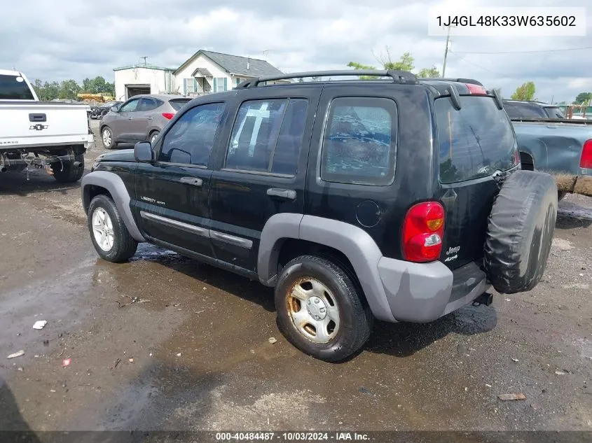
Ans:
{"label": "front door window of the black Jeep, above the side mirror", "polygon": [[181,115],[165,134],[158,160],[207,166],[223,111],[223,103],[211,103]]}

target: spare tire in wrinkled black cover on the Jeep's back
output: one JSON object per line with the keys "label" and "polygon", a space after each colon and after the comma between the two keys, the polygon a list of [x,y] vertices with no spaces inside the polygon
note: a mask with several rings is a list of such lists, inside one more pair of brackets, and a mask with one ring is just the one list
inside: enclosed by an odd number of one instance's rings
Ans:
{"label": "spare tire in wrinkled black cover on the Jeep's back", "polygon": [[506,178],[493,202],[483,255],[497,292],[519,293],[537,286],[556,219],[557,186],[551,175],[516,171]]}

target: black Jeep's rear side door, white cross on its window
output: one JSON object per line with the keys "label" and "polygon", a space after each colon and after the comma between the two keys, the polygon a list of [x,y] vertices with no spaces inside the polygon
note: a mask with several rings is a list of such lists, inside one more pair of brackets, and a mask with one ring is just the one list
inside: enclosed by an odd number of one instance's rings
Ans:
{"label": "black Jeep's rear side door, white cross on its window", "polygon": [[303,213],[320,91],[320,85],[300,85],[238,94],[233,106],[238,111],[224,137],[210,191],[210,237],[219,260],[255,272],[267,220],[277,213]]}

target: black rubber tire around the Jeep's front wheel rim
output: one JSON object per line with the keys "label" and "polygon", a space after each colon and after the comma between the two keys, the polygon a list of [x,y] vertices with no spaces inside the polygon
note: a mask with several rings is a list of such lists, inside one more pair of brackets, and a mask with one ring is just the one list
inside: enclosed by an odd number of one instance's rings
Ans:
{"label": "black rubber tire around the Jeep's front wheel rim", "polygon": [[[103,225],[106,225],[111,234],[113,234],[110,248],[105,247],[109,245],[99,245],[97,237],[95,237],[95,227],[99,225],[95,223],[94,217],[95,213],[99,213],[99,211],[106,213],[109,216],[109,220],[111,220],[110,228],[109,223],[104,223]],[[100,213],[97,216],[100,218]],[[87,220],[92,245],[95,246],[97,253],[103,260],[113,263],[125,262],[125,260],[128,260],[136,253],[138,242],[128,232],[128,228],[125,227],[125,223],[123,223],[117,206],[115,206],[111,197],[101,194],[92,199],[88,206]]]}

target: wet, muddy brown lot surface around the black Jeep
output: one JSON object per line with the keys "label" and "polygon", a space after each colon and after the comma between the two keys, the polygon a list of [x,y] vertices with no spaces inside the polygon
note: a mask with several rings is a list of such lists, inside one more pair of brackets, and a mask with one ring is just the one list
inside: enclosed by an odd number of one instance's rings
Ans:
{"label": "wet, muddy brown lot surface around the black Jeep", "polygon": [[377,322],[332,365],[280,335],[269,288],[149,245],[99,260],[78,184],[4,174],[0,430],[592,430],[592,199],[560,207],[535,290]]}

